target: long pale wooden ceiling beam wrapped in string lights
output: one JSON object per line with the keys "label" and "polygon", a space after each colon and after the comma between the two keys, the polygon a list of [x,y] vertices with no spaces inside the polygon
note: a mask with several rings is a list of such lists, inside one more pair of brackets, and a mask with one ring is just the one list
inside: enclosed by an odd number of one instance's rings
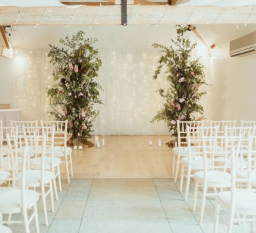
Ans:
{"label": "long pale wooden ceiling beam wrapped in string lights", "polygon": [[[134,0],[136,4],[136,0]],[[99,4],[99,3],[98,3]],[[42,19],[46,7],[24,7],[16,26],[19,25],[68,25],[70,16],[75,9],[67,7],[48,7],[45,18]],[[134,5],[127,5],[128,19]],[[97,6],[81,6],[77,9],[71,25],[91,25],[99,10]],[[172,6],[166,11],[165,5],[137,5],[128,25],[157,25],[161,24],[256,24],[256,8],[252,12],[248,6],[225,7],[221,14],[220,6]],[[0,22],[2,25],[14,25],[19,15],[20,7],[0,7]],[[121,5],[102,5],[97,15],[97,25],[120,25]],[[36,30],[36,29],[35,29]]]}

